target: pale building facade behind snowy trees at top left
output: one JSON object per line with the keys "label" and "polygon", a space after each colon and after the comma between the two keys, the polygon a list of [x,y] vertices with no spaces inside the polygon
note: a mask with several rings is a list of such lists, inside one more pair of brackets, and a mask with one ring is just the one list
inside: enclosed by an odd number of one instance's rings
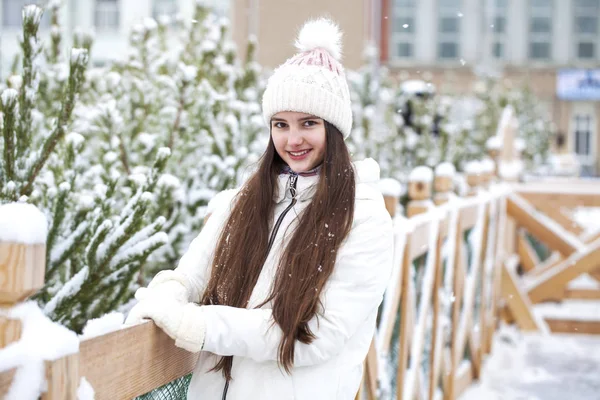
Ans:
{"label": "pale building facade behind snowy trees at top left", "polygon": [[[218,15],[229,17],[230,0],[203,0]],[[19,52],[21,10],[27,4],[44,5],[47,0],[0,0],[0,76],[10,68]],[[65,49],[76,29],[95,33],[92,62],[101,65],[112,58],[125,56],[131,27],[144,18],[161,15],[192,18],[196,0],[63,0],[60,20],[65,29]],[[45,15],[40,37],[48,36],[49,18]]]}

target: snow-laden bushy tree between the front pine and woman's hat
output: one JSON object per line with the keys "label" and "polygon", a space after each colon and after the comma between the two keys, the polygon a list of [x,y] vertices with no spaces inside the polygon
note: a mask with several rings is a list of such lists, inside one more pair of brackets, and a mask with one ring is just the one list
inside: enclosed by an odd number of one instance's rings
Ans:
{"label": "snow-laden bushy tree between the front pine and woman's hat", "polygon": [[197,4],[192,21],[135,26],[128,58],[90,71],[75,110],[89,157],[110,155],[122,175],[147,171],[158,147],[172,150],[159,181],[169,198],[161,210],[169,245],[151,256],[145,278],[176,264],[202,228],[208,201],[241,183],[268,138],[255,40],[241,62],[225,20]]}

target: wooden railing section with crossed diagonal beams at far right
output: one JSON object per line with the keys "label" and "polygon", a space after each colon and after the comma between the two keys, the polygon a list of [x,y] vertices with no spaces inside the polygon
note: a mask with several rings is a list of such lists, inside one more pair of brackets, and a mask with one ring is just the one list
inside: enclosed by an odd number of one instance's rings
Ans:
{"label": "wooden railing section with crossed diagonal beams at far right", "polygon": [[[528,182],[514,186],[508,198],[510,230],[507,250],[519,255],[509,273],[513,296],[502,315],[522,329],[549,330],[555,333],[600,333],[600,320],[536,317],[535,305],[568,300],[600,300],[600,284],[591,288],[570,286],[582,275],[600,281],[600,230],[586,232],[573,221],[577,207],[600,207],[600,182],[550,181]],[[551,252],[540,260],[528,238],[535,238]],[[521,275],[516,272],[520,261]]]}

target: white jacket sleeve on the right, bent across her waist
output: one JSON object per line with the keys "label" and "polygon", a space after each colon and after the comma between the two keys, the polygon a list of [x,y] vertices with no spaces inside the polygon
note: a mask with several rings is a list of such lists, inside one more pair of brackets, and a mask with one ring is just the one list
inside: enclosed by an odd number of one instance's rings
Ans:
{"label": "white jacket sleeve on the right, bent across her waist", "polygon": [[[323,314],[309,322],[316,339],[311,344],[296,342],[295,366],[324,363],[339,354],[382,301],[392,268],[392,222],[383,201],[362,205],[369,215],[355,221],[340,248],[334,273],[323,291]],[[282,332],[270,309],[203,308],[203,350],[258,362],[277,360]]]}

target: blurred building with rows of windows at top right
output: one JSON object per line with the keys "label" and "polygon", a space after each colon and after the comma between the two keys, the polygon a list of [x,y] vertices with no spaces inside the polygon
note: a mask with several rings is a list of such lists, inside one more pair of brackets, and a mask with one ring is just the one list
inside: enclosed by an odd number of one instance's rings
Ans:
{"label": "blurred building with rows of windows at top right", "polygon": [[600,0],[382,0],[382,62],[440,91],[482,70],[527,84],[553,118],[557,152],[600,171]]}

